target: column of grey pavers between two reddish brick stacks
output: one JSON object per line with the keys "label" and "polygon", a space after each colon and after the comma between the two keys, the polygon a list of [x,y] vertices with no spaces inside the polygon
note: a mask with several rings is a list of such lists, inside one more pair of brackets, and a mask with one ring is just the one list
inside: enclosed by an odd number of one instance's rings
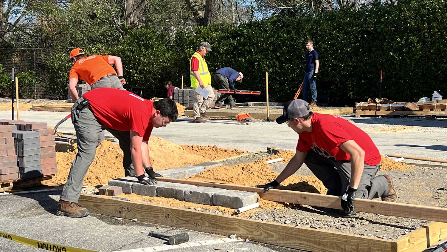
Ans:
{"label": "column of grey pavers between two reddish brick stacks", "polygon": [[[41,127],[39,123],[29,125],[29,128]],[[39,132],[17,130],[13,131],[13,137],[19,160],[19,177],[21,179],[41,177]]]}

